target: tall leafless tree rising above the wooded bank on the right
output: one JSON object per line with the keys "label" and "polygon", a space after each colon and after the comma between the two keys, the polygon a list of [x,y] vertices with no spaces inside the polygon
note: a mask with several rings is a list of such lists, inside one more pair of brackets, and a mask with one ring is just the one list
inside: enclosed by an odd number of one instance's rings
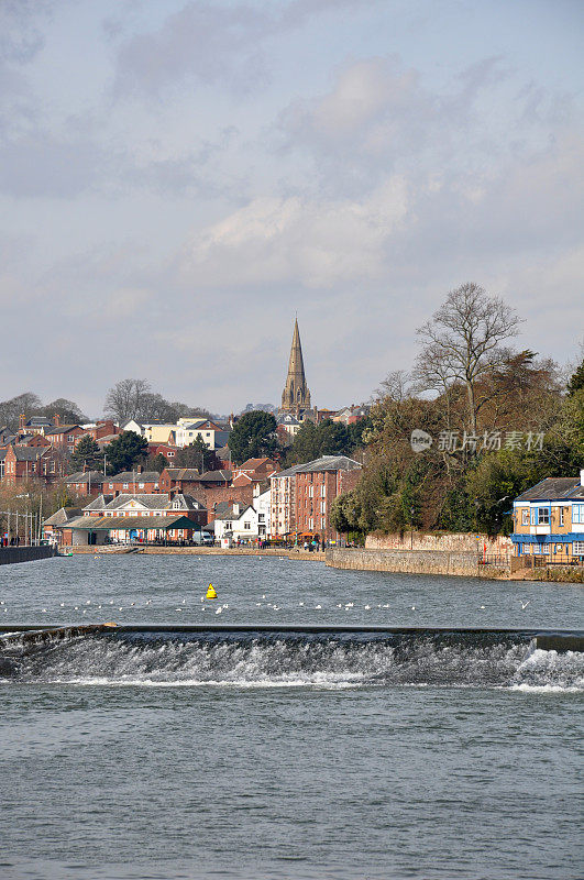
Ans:
{"label": "tall leafless tree rising above the wooded bank on the right", "polygon": [[515,310],[500,297],[467,283],[451,290],[432,320],[418,330],[425,343],[415,369],[418,386],[442,394],[449,384],[461,383],[473,435],[482,405],[477,383],[505,362],[508,352],[502,342],[517,336],[518,323]]}

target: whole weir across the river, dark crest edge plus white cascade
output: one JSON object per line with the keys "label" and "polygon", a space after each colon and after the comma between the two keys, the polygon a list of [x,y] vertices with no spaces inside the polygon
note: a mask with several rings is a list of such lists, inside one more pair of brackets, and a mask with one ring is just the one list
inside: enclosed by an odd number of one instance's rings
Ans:
{"label": "whole weir across the river, dark crest edge plus white cascade", "polygon": [[431,627],[13,626],[3,683],[584,688],[584,634]]}

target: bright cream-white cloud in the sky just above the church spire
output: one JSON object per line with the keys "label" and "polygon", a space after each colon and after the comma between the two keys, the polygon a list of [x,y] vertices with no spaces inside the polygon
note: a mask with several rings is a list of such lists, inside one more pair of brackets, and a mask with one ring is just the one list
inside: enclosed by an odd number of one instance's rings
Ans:
{"label": "bright cream-white cloud in the sky just above the church spire", "polygon": [[326,289],[377,277],[386,241],[407,211],[399,177],[363,202],[254,199],[198,232],[183,249],[179,272],[209,287],[278,283]]}

